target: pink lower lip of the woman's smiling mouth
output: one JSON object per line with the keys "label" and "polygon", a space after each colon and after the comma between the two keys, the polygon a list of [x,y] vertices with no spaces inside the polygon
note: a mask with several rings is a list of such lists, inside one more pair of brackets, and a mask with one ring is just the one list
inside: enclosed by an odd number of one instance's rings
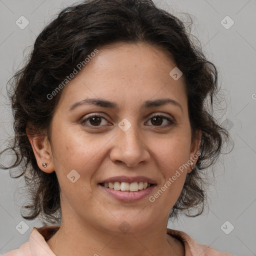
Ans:
{"label": "pink lower lip of the woman's smiling mouth", "polygon": [[101,185],[99,185],[99,186],[104,191],[106,191],[110,196],[112,196],[120,201],[123,201],[123,202],[130,202],[130,201],[137,201],[137,200],[141,200],[141,199],[145,198],[146,196],[148,196],[151,193],[151,191],[154,189],[154,187],[156,185],[155,184],[151,185],[145,189],[141,189],[136,192],[121,191],[121,190],[115,190],[113,188],[104,187]]}

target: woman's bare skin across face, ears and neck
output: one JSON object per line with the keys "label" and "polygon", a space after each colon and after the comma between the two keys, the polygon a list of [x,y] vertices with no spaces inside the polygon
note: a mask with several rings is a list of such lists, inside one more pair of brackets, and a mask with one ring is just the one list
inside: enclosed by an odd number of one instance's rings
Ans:
{"label": "woman's bare skin across face, ears and neck", "polygon": [[[55,171],[61,189],[60,229],[47,243],[62,256],[185,255],[183,244],[166,234],[166,226],[190,166],[154,202],[148,197],[121,202],[98,185],[112,176],[144,175],[157,183],[153,195],[196,155],[200,134],[191,143],[184,77],[172,79],[175,62],[160,47],[115,43],[98,50],[62,89],[50,138],[28,135],[38,166]],[[118,108],[84,104],[69,110],[77,101],[98,97]],[[173,104],[141,108],[146,100],[166,97],[182,110]],[[103,118],[81,123],[91,113]],[[167,126],[165,118],[153,120],[152,114],[174,118],[175,123]],[[131,124],[126,131],[118,127],[123,118]],[[80,175],[74,183],[67,178],[72,169]],[[118,228],[123,221],[130,226],[127,233]]]}

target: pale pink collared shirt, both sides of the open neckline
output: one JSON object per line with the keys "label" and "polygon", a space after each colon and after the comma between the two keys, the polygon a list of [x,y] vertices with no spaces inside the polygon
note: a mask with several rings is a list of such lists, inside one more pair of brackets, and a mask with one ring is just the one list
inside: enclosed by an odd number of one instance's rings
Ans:
{"label": "pale pink collared shirt, both sides of the open neckline", "polygon": [[[59,226],[34,227],[29,240],[3,256],[56,256],[46,241],[58,230]],[[183,231],[167,228],[167,233],[183,242],[185,256],[233,256],[225,252],[219,252],[207,245],[199,244]]]}

